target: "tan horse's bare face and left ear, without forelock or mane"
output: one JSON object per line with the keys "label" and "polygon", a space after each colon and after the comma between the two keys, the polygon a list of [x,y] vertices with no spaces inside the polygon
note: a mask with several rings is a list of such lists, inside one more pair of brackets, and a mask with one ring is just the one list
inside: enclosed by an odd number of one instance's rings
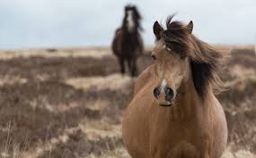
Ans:
{"label": "tan horse's bare face and left ear, without forelock or mane", "polygon": [[170,106],[175,101],[177,89],[181,86],[181,82],[189,79],[190,62],[186,55],[177,54],[167,47],[158,34],[163,28],[160,25],[157,27],[161,28],[155,27],[154,34],[156,38],[159,37],[159,40],[152,52],[156,75],[153,94],[160,105]]}

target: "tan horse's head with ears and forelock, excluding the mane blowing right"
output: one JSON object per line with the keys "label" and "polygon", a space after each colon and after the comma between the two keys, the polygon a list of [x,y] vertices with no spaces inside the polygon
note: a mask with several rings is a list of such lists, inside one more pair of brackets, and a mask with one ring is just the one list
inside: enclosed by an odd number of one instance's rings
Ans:
{"label": "tan horse's head with ears and forelock, excluding the mane blowing right", "polygon": [[167,20],[167,29],[154,22],[156,46],[152,52],[155,60],[156,85],[154,97],[160,105],[172,105],[182,81],[189,79],[190,61],[188,44],[193,23],[181,25],[179,21]]}

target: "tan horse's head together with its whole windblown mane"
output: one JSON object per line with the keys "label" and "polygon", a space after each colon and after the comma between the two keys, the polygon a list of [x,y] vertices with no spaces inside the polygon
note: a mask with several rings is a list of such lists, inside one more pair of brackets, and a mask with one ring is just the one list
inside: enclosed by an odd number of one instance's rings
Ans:
{"label": "tan horse's head together with its whole windblown mane", "polygon": [[161,105],[172,105],[177,93],[188,88],[185,85],[191,79],[193,86],[189,89],[194,88],[204,100],[208,92],[222,90],[223,83],[217,72],[228,52],[216,50],[193,36],[192,21],[183,25],[172,21],[172,17],[166,21],[167,29],[154,22],[156,46],[152,57],[156,61],[157,80],[154,97]]}

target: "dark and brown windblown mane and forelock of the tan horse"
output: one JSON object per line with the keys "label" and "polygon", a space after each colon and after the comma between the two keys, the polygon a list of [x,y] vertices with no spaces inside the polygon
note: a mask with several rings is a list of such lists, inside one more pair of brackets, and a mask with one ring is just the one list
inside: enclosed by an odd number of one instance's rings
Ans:
{"label": "dark and brown windblown mane and forelock of the tan horse", "polygon": [[173,15],[167,18],[166,29],[161,33],[165,45],[173,52],[189,57],[193,83],[201,98],[206,97],[208,90],[219,92],[224,84],[217,72],[226,53],[199,40],[186,25],[181,21],[172,21],[172,18]]}

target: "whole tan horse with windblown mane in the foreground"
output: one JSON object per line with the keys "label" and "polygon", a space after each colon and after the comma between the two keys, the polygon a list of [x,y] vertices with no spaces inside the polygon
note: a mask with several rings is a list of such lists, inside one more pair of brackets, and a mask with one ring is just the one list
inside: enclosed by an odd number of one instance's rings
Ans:
{"label": "whole tan horse with windblown mane in the foreground", "polygon": [[225,54],[170,17],[157,21],[155,63],[137,79],[124,114],[122,133],[133,158],[219,158],[226,146],[225,113],[213,93]]}

